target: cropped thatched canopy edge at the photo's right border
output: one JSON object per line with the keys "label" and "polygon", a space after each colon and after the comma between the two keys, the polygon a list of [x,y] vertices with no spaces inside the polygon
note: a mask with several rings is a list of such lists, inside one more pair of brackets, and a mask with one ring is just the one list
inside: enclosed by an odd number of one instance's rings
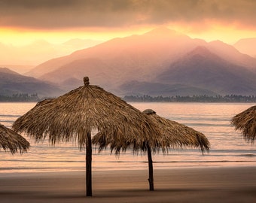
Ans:
{"label": "cropped thatched canopy edge at the photo's right border", "polygon": [[242,132],[245,140],[253,143],[256,138],[256,106],[237,114],[231,119],[230,123],[235,126],[236,130]]}

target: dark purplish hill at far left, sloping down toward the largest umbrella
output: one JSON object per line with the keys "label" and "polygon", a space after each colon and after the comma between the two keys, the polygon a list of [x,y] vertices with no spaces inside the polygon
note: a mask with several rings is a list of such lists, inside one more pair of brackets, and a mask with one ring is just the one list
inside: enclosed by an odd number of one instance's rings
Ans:
{"label": "dark purplish hill at far left, sloping down toward the largest umbrella", "polygon": [[63,93],[59,86],[26,77],[8,68],[0,68],[0,95],[37,93],[39,97],[56,96]]}

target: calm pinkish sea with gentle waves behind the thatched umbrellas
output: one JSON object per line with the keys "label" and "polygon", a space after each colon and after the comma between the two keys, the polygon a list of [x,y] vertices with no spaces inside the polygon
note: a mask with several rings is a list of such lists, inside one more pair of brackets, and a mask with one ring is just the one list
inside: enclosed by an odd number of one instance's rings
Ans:
{"label": "calm pinkish sea with gentle waves behind the thatched umbrellas", "polygon": [[[211,143],[209,153],[198,149],[172,150],[169,154],[153,156],[154,168],[256,165],[256,144],[249,144],[230,126],[230,119],[256,104],[224,103],[130,103],[143,111],[154,109],[161,117],[175,120],[203,132]],[[0,103],[0,123],[11,128],[18,117],[35,103]],[[24,137],[26,137],[24,135]],[[26,137],[27,138],[27,137]],[[28,153],[11,155],[0,151],[0,173],[33,171],[85,170],[85,152],[75,143],[50,146],[47,141],[31,143]],[[95,148],[94,148],[95,149]],[[93,150],[93,170],[147,169],[147,156],[131,151],[110,155],[109,150]]]}

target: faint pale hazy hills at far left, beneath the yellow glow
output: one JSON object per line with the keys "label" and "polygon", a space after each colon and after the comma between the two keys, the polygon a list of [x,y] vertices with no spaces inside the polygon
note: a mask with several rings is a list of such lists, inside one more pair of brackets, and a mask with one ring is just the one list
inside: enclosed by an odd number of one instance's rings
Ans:
{"label": "faint pale hazy hills at far left, beneath the yellow glow", "polygon": [[23,65],[34,68],[48,59],[66,56],[75,50],[93,47],[99,43],[102,43],[102,41],[72,39],[62,44],[51,44],[48,41],[38,40],[31,44],[14,46],[1,43],[0,38],[0,65],[7,65],[7,67]]}

